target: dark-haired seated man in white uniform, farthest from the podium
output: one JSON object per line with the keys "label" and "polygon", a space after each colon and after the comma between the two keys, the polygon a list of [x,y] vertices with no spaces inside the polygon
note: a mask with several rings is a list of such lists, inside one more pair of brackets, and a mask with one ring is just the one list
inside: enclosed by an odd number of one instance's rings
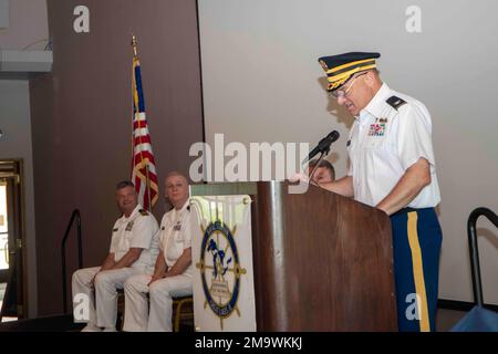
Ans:
{"label": "dark-haired seated man in white uniform, farthest from the podium", "polygon": [[[116,186],[116,202],[123,216],[113,227],[110,252],[101,267],[73,273],[73,305],[77,312],[82,294],[89,300],[85,332],[116,331],[117,289],[127,278],[149,273],[158,250],[158,226],[155,217],[138,204],[131,181]],[[82,322],[81,319],[75,321]]]}

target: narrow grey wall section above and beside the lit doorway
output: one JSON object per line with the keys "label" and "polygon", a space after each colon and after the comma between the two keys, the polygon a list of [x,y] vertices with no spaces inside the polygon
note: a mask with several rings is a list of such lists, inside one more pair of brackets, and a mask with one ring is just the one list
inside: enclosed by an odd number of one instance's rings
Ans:
{"label": "narrow grey wall section above and beside the lit doorway", "polygon": [[22,158],[24,178],[25,277],[28,315],[37,314],[37,252],[34,237],[33,158],[29,82],[0,80],[0,159]]}

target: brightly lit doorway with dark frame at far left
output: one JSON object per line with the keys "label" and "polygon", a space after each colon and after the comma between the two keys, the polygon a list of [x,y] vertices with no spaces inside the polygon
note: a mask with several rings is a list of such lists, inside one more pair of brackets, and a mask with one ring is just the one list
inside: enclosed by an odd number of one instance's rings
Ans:
{"label": "brightly lit doorway with dark frame at far left", "polygon": [[22,160],[0,160],[0,321],[23,317]]}

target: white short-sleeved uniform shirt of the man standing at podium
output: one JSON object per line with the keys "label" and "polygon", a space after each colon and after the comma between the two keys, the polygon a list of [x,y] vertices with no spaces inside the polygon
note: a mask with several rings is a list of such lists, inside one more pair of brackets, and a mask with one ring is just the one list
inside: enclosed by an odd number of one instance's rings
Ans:
{"label": "white short-sleeved uniform shirt of the man standing at podium", "polygon": [[[391,96],[406,103],[395,110],[386,102]],[[430,134],[430,115],[425,105],[384,83],[355,117],[350,132],[347,175],[353,177],[354,199],[375,207],[423,157],[430,165],[430,184],[407,207],[438,205],[440,195]]]}

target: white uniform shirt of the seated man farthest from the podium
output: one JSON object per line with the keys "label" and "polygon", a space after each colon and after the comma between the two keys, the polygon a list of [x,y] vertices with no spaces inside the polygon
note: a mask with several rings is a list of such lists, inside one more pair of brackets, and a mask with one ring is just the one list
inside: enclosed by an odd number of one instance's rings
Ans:
{"label": "white uniform shirt of the seated man farthest from the podium", "polygon": [[142,206],[137,205],[129,217],[123,215],[116,220],[110,252],[114,253],[114,261],[118,262],[131,248],[142,248],[141,257],[132,267],[151,271],[159,253],[159,227],[156,218],[149,212],[141,212],[142,209]]}

